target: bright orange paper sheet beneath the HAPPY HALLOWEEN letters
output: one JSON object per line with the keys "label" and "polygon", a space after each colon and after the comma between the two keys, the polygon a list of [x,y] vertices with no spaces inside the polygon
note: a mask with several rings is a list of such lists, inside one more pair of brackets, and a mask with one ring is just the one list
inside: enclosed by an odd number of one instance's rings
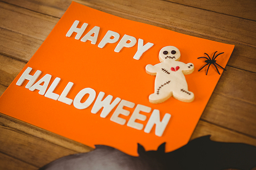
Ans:
{"label": "bright orange paper sheet beneath the HAPPY HALLOWEEN letters", "polygon": [[[66,36],[75,20],[79,21],[77,28],[81,28],[83,23],[88,23],[79,39],[75,39],[77,33],[73,33],[70,37]],[[99,27],[96,44],[92,44],[91,40],[82,42],[82,37],[95,26]],[[120,38],[117,42],[108,43],[103,48],[98,47],[109,30],[118,33]],[[124,35],[135,37],[137,42],[133,47],[123,47],[117,53],[114,50]],[[136,60],[133,56],[137,52],[139,39],[143,39],[143,45],[148,42],[154,45],[143,53],[139,60]],[[161,104],[152,104],[148,100],[148,96],[154,92],[155,76],[148,75],[145,67],[147,64],[159,63],[159,51],[168,45],[179,48],[181,62],[191,62],[195,65],[195,71],[185,75],[189,91],[195,94],[193,102],[185,103],[173,97]],[[93,148],[95,144],[109,145],[136,156],[137,143],[143,145],[148,151],[157,150],[161,143],[166,142],[166,152],[170,152],[188,142],[221,76],[214,65],[209,67],[207,76],[205,75],[207,66],[198,71],[206,63],[204,59],[197,58],[207,57],[204,53],[212,56],[216,51],[224,52],[216,60],[218,64],[225,67],[233,47],[234,45],[123,19],[73,2],[31,60],[1,96],[0,112]],[[28,67],[32,68],[30,75],[34,75],[36,70],[42,71],[35,83],[47,74],[52,76],[47,90],[57,77],[60,78],[59,84],[53,91],[58,95],[69,82],[74,83],[66,96],[70,100],[74,100],[82,89],[91,88],[95,91],[94,99],[90,94],[93,99],[92,104],[85,109],[77,109],[73,102],[71,105],[65,104],[39,94],[37,89],[31,91],[25,88],[28,80],[25,80],[21,86],[16,85]],[[218,68],[222,74],[223,69]],[[43,86],[44,83],[40,85]],[[96,114],[91,112],[101,91],[105,93],[103,99],[107,95],[112,95],[112,102],[120,98],[134,103],[133,108],[123,107],[124,110],[130,111],[129,115],[118,115],[125,120],[124,125],[111,120],[118,104],[106,117],[100,117],[102,108]],[[80,102],[87,101],[90,96],[86,94]],[[135,120],[143,126],[141,130],[127,126],[138,105],[151,108],[149,113],[140,112],[146,116],[145,120]],[[165,113],[171,115],[162,136],[155,134],[155,126],[150,133],[144,132],[154,109],[159,110],[160,120]]]}

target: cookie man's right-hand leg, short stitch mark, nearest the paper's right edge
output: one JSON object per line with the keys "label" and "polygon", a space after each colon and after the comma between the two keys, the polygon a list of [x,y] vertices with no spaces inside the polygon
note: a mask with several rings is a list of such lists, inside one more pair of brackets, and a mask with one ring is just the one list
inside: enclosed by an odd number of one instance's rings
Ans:
{"label": "cookie man's right-hand leg, short stitch mark, nearest the paper's right edge", "polygon": [[173,92],[175,99],[182,102],[192,102],[195,99],[194,93],[188,91],[186,88],[179,88]]}

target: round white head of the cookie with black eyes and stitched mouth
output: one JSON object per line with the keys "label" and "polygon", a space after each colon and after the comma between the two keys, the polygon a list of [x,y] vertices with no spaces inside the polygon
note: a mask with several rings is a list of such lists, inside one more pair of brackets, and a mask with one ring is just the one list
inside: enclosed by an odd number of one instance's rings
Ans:
{"label": "round white head of the cookie with black eyes and stitched mouth", "polygon": [[159,52],[159,60],[163,61],[179,61],[180,51],[175,46],[165,46]]}

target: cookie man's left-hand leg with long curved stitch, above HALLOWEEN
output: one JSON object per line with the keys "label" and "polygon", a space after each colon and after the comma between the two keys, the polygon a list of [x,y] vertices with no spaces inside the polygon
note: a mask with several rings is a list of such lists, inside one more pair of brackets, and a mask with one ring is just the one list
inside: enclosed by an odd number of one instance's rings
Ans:
{"label": "cookie man's left-hand leg with long curved stitch, above HALLOWEEN", "polygon": [[150,103],[158,104],[166,101],[172,96],[172,91],[170,91],[170,81],[166,81],[161,84],[155,85],[155,92],[150,95]]}

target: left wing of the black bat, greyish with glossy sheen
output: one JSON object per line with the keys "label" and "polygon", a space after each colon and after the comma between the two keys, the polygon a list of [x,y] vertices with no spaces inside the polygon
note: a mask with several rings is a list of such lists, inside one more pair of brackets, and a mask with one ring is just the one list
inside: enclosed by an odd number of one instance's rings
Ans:
{"label": "left wing of the black bat, greyish with glossy sheen", "polygon": [[94,151],[62,157],[38,170],[162,170],[156,165],[155,159],[152,159],[150,163],[148,164],[147,160],[127,155],[115,148],[96,145]]}

